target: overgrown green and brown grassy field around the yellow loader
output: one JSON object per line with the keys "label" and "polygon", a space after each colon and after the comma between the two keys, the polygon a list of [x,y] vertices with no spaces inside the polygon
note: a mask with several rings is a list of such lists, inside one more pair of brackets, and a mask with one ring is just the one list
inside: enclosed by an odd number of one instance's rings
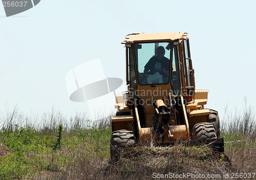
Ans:
{"label": "overgrown green and brown grassy field around the yellow loader", "polygon": [[17,108],[2,113],[0,179],[256,179],[251,106],[221,119],[225,154],[205,145],[137,145],[120,149],[120,161],[111,164],[110,121],[93,123],[84,114],[67,119],[54,109],[42,117]]}

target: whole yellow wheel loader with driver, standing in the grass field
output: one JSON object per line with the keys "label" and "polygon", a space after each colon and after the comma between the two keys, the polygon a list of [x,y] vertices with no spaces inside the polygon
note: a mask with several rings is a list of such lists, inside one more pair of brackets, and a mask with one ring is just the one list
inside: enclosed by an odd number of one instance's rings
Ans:
{"label": "whole yellow wheel loader with driver, standing in the grass field", "polygon": [[208,91],[195,88],[187,34],[125,37],[127,92],[116,97],[112,147],[220,138],[218,112],[204,108]]}

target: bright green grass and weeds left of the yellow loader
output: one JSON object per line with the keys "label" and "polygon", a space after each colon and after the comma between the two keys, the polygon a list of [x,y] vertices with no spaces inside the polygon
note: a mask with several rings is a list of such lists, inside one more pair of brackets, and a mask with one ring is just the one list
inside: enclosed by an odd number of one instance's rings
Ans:
{"label": "bright green grass and weeds left of the yellow loader", "polygon": [[[103,119],[101,121],[108,121]],[[20,127],[17,124],[0,131],[0,179],[32,178],[35,174],[63,172],[81,157],[109,158],[110,123],[69,129],[55,127]],[[32,178],[33,179],[33,178]],[[44,178],[42,178],[44,179]]]}

